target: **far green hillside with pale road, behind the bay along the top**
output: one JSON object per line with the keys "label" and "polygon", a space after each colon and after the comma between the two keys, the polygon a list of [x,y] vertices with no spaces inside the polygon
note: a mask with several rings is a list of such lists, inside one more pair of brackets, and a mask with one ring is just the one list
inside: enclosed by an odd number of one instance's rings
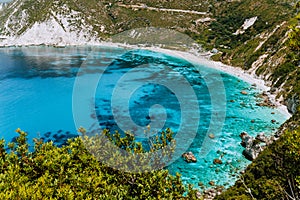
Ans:
{"label": "far green hillside with pale road, behind the bay along the top", "polygon": [[[208,49],[236,49],[253,35],[271,31],[287,20],[294,1],[15,0],[0,13],[0,35],[19,37],[46,22],[47,27],[59,25],[67,33],[83,32],[79,35],[98,39],[152,26],[186,33]],[[243,34],[234,34],[253,17],[257,20]]]}

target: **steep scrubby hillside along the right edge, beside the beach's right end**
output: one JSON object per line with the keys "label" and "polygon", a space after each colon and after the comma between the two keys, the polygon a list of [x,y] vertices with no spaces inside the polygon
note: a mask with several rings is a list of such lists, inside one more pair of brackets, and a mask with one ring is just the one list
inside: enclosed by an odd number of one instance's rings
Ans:
{"label": "steep scrubby hillside along the right edge, beside the beach's right end", "polygon": [[[298,9],[299,3],[295,7]],[[215,57],[269,81],[271,93],[282,99],[293,113],[277,132],[282,135],[280,139],[264,150],[245,174],[240,175],[240,180],[216,199],[300,198],[299,20],[297,14],[272,32],[257,35]]]}

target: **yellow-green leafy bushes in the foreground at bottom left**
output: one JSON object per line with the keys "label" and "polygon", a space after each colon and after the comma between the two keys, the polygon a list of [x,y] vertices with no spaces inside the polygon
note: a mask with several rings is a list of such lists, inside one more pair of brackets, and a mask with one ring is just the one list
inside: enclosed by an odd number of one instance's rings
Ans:
{"label": "yellow-green leafy bushes in the foreground at bottom left", "polygon": [[[10,151],[5,150],[4,140],[0,141],[0,199],[185,198],[187,190],[178,174],[171,176],[167,170],[128,173],[112,169],[97,161],[80,137],[70,139],[63,147],[36,139],[30,152],[27,134],[20,129],[17,132],[17,142],[8,144]],[[119,138],[119,145],[130,143],[144,151],[129,136]],[[165,141],[165,137],[167,133],[162,134],[160,141]],[[186,198],[194,199],[195,191],[189,190]]]}

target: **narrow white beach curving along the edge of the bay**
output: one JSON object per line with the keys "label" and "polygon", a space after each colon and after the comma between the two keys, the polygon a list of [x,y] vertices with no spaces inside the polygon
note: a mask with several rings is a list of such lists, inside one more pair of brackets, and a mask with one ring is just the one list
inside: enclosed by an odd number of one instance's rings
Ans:
{"label": "narrow white beach curving along the edge of the bay", "polygon": [[[62,44],[62,45],[55,45],[55,44],[21,44],[21,45],[2,45],[1,48],[5,47],[25,47],[25,46],[53,46],[53,47],[68,47],[68,46],[102,46],[102,47],[119,47],[119,48],[129,48],[129,49],[144,49],[144,50],[151,50],[155,52],[160,52],[164,54],[168,54],[175,57],[183,58],[189,62],[192,63],[200,63],[203,64],[209,68],[213,68],[216,70],[219,70],[221,72],[225,72],[229,75],[235,76],[249,84],[255,84],[256,88],[261,91],[269,91],[270,87],[266,85],[266,82],[258,77],[255,77],[255,75],[247,73],[245,70],[239,68],[239,67],[233,67],[230,65],[225,65],[221,62],[212,61],[209,59],[208,56],[205,56],[203,53],[198,53],[196,51],[179,51],[179,50],[170,50],[165,49],[161,47],[143,47],[143,46],[137,46],[137,45],[128,45],[128,44],[122,44],[122,43],[113,43],[113,42],[91,42],[86,44]],[[277,107],[277,109],[280,110],[281,113],[283,113],[286,118],[290,118],[292,115],[288,112],[287,107],[283,104],[281,104],[279,101],[276,100],[274,95],[271,95],[268,93],[268,96],[272,103],[274,103]]]}

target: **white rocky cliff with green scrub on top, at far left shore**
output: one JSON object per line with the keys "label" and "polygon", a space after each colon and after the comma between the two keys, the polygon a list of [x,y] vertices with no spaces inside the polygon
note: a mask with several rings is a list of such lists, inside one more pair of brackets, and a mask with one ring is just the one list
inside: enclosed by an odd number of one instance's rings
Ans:
{"label": "white rocky cliff with green scrub on top, at far left shore", "polygon": [[[49,44],[68,44],[98,40],[107,32],[102,24],[110,27],[110,23],[103,10],[91,9],[94,4],[101,3],[94,1],[83,7],[74,1],[17,0],[1,13],[0,32],[10,38],[7,44],[12,41],[16,44],[43,44],[46,41]],[[101,21],[92,21],[86,15],[88,11]]]}

